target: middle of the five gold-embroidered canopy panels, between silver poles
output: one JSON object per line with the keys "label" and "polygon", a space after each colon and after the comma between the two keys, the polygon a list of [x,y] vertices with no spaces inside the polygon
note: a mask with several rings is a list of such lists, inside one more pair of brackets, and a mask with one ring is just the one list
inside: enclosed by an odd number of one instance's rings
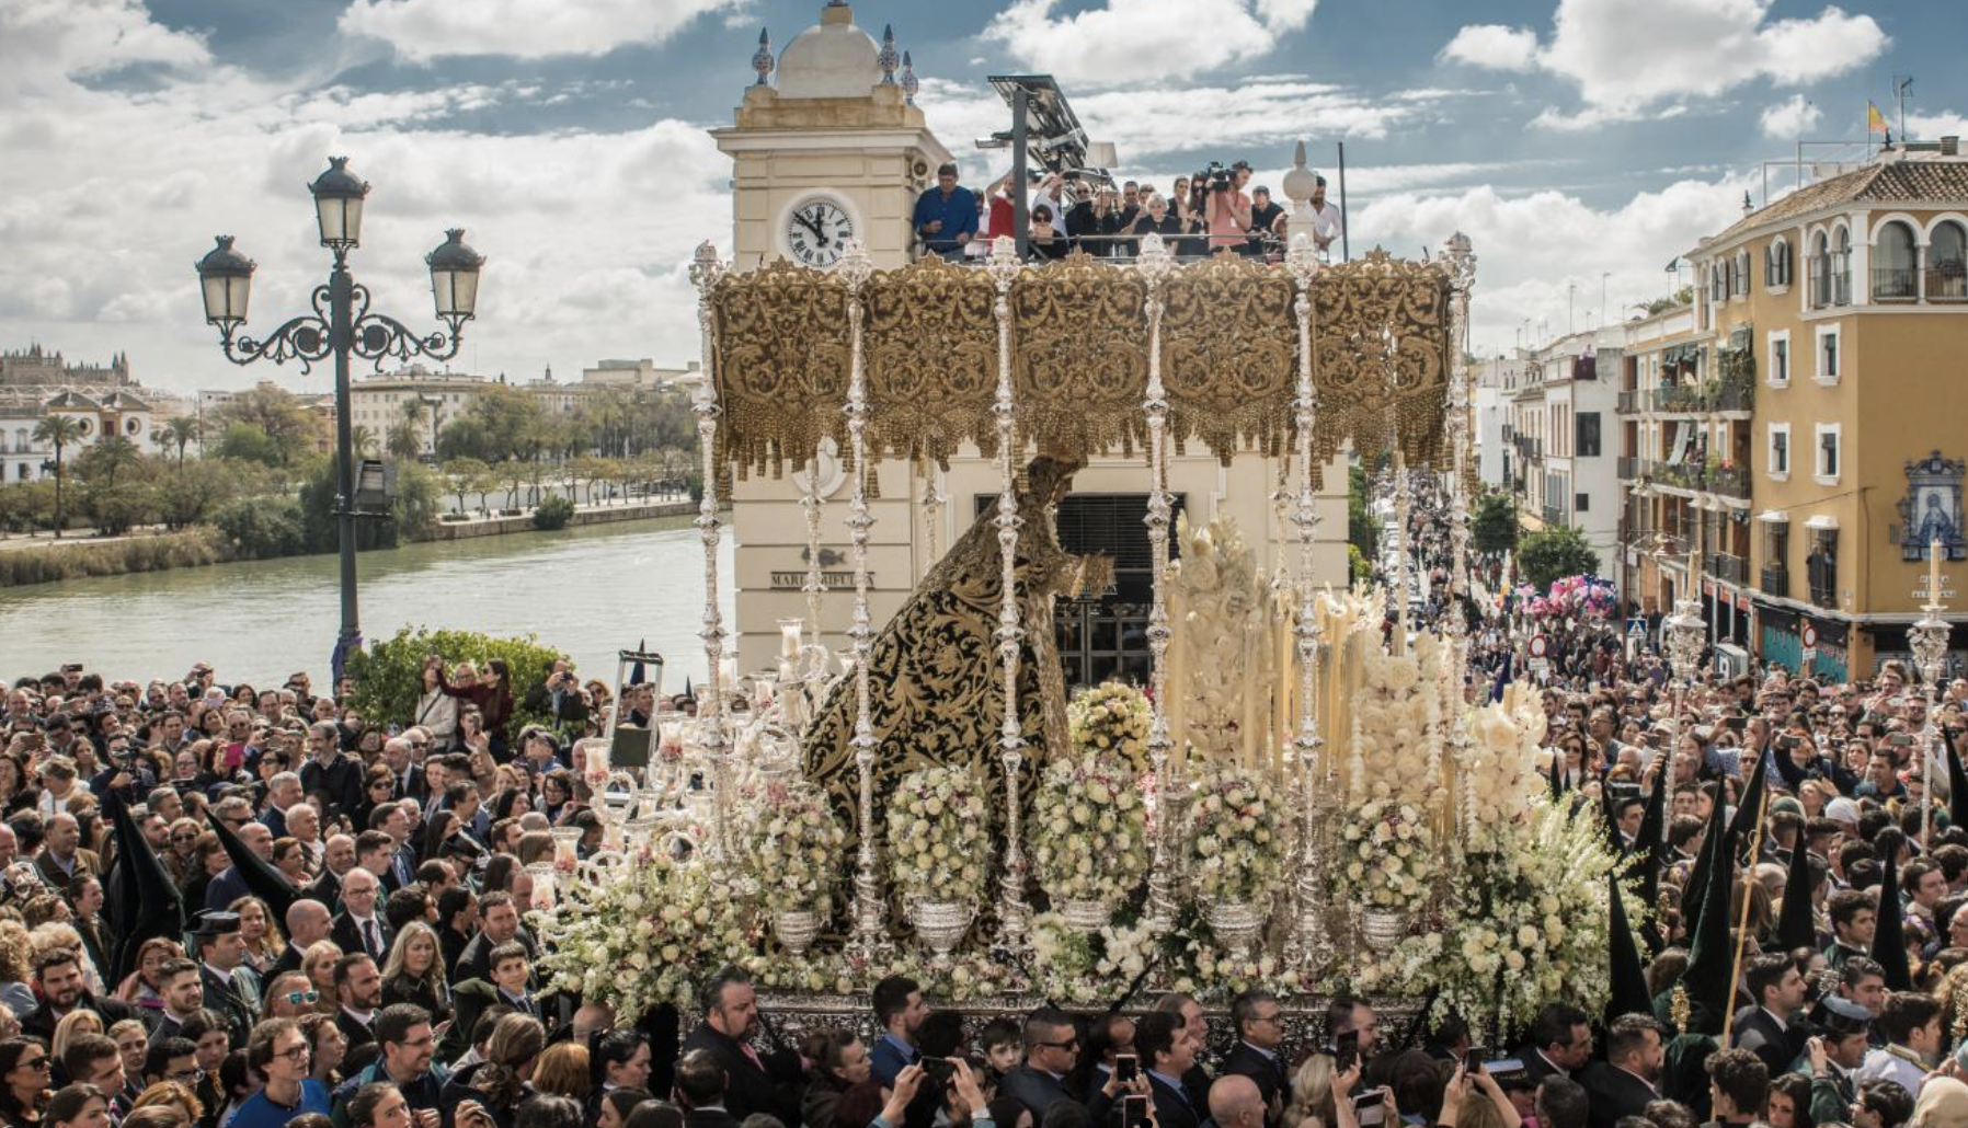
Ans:
{"label": "middle of the five gold-embroidered canopy panels, between silver poles", "polygon": [[1147,283],[1086,254],[1012,285],[1017,429],[1041,451],[1084,457],[1147,443]]}

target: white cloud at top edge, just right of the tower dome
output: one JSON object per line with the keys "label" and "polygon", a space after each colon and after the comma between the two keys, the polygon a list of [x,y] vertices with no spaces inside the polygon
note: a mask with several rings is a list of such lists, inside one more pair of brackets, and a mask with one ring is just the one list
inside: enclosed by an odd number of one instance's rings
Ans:
{"label": "white cloud at top edge, just right of the tower dome", "polygon": [[1106,0],[1055,16],[1059,0],[1017,0],[984,39],[1063,83],[1187,79],[1256,59],[1313,18],[1317,0]]}

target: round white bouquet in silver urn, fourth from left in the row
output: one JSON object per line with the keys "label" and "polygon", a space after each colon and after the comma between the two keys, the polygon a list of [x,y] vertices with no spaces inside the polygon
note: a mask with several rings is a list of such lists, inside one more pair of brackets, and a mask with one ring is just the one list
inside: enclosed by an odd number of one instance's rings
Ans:
{"label": "round white bouquet in silver urn, fourth from left in the row", "polygon": [[1189,880],[1199,900],[1267,902],[1285,868],[1291,813],[1261,772],[1208,764],[1185,811]]}

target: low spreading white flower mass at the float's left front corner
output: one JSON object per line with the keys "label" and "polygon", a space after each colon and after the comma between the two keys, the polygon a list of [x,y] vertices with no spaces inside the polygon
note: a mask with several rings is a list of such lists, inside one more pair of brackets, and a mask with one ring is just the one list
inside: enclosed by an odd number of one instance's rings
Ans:
{"label": "low spreading white flower mass at the float's left front corner", "polygon": [[569,882],[553,909],[529,913],[549,986],[606,1002],[620,1016],[689,1006],[699,974],[754,949],[746,902],[701,862],[651,850],[598,880]]}

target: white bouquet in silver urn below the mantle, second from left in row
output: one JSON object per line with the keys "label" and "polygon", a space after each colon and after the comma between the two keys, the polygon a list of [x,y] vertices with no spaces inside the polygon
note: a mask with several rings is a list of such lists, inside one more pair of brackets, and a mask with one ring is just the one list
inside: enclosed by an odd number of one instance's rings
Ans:
{"label": "white bouquet in silver urn below the mantle, second from left in row", "polygon": [[984,782],[958,768],[919,768],[888,803],[888,880],[903,902],[974,904],[990,864]]}

